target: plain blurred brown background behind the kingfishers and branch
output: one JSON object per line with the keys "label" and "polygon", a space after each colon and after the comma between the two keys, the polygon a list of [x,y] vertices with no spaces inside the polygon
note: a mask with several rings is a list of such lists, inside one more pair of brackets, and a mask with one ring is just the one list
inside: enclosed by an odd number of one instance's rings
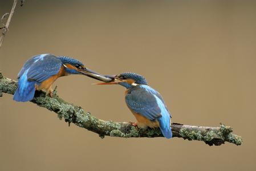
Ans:
{"label": "plain blurred brown background behind the kingfishers and branch", "polygon": [[[13,1],[1,0],[1,15]],[[78,58],[102,74],[140,73],[173,121],[234,127],[243,145],[174,138],[121,139],[0,98],[0,170],[255,170],[255,1],[26,1],[0,50],[15,79],[32,55]],[[56,81],[63,99],[104,120],[135,121],[124,88],[81,75]]]}

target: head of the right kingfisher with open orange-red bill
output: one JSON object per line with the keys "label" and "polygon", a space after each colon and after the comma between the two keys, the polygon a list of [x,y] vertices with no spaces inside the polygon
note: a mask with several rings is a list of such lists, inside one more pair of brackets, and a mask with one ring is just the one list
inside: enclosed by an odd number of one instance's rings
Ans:
{"label": "head of the right kingfisher with open orange-red bill", "polygon": [[99,85],[107,85],[107,84],[119,84],[120,86],[124,86],[125,88],[131,88],[138,85],[147,85],[146,79],[139,74],[132,72],[125,72],[118,75],[105,75],[105,77],[112,79],[111,82],[108,83],[97,83]]}

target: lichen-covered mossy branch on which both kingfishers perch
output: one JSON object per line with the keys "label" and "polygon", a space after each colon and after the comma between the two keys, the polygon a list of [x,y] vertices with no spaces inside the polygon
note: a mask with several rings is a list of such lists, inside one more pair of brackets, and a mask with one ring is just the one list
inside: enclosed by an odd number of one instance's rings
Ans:
{"label": "lichen-covered mossy branch on which both kingfishers perch", "polygon": [[[0,71],[0,96],[3,93],[14,94],[18,84],[15,80],[6,78]],[[68,124],[74,123],[78,127],[86,128],[89,131],[104,136],[113,137],[162,137],[160,129],[137,129],[131,123],[116,123],[114,121],[104,121],[92,116],[89,112],[76,105],[70,104],[56,95],[48,97],[44,92],[36,91],[32,103],[40,107],[47,108],[58,114],[60,119],[64,118]],[[200,127],[183,124],[172,124],[173,137],[182,137],[188,140],[204,141],[208,145],[221,145],[225,142],[235,145],[242,144],[242,138],[235,135],[231,127],[221,124],[220,127]]]}

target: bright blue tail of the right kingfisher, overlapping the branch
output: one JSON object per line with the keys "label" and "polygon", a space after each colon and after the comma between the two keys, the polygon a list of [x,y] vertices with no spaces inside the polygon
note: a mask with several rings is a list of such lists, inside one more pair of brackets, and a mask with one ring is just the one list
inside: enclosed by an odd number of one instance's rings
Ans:
{"label": "bright blue tail of the right kingfisher, overlapping the branch", "polygon": [[[168,115],[169,115],[169,113],[168,113]],[[170,128],[170,115],[169,115],[169,117],[162,116],[157,120],[159,121],[162,135],[164,135],[164,137],[166,139],[172,138],[172,128]]]}

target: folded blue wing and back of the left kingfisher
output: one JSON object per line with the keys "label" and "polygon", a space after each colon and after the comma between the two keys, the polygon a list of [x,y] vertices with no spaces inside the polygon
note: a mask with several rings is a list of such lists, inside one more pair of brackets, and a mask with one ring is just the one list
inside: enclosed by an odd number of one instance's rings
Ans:
{"label": "folded blue wing and back of the left kingfisher", "polygon": [[[27,80],[30,82],[42,83],[52,75],[58,74],[62,67],[62,61],[51,54],[37,55],[32,59],[34,62],[29,66],[29,71],[27,72]],[[26,64],[24,67],[26,67]]]}

